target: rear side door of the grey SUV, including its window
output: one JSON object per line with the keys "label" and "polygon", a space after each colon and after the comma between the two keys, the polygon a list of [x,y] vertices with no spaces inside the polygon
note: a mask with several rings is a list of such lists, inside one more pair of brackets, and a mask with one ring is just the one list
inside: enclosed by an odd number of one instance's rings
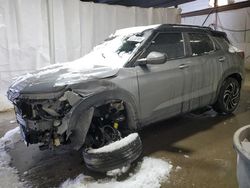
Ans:
{"label": "rear side door of the grey SUV, including its window", "polygon": [[209,34],[193,32],[185,36],[190,57],[186,59],[183,112],[211,104],[217,89],[218,62],[225,60]]}

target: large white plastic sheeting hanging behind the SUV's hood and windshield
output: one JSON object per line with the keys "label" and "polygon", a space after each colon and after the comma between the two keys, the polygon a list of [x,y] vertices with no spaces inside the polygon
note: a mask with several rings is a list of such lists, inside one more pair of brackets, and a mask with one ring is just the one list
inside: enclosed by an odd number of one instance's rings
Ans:
{"label": "large white plastic sheeting hanging behind the SUV's hood and windshield", "polygon": [[[83,56],[117,29],[180,23],[180,10],[175,8],[51,2],[56,62]],[[49,64],[47,1],[0,0],[0,99],[14,77]]]}

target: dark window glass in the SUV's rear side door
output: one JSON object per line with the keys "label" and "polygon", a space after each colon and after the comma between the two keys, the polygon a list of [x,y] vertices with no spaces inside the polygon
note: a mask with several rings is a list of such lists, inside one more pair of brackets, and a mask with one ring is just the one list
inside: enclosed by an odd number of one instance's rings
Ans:
{"label": "dark window glass in the SUV's rear side door", "polygon": [[207,34],[189,33],[192,56],[204,55],[214,51],[214,44]]}

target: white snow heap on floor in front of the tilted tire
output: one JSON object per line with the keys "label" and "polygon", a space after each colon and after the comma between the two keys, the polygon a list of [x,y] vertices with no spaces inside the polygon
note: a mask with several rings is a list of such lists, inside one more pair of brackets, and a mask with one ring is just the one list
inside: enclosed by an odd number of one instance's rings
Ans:
{"label": "white snow heap on floor in front of the tilted tire", "polygon": [[144,157],[134,174],[124,181],[106,178],[95,181],[80,174],[73,180],[67,180],[61,188],[159,188],[161,182],[169,177],[172,165],[162,159]]}

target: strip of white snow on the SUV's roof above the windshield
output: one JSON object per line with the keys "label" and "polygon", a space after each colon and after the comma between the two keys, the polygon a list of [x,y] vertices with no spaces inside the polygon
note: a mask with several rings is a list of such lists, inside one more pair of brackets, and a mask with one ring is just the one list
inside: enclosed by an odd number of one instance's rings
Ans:
{"label": "strip of white snow on the SUV's roof above the windshield", "polygon": [[159,26],[160,26],[160,24],[148,25],[148,26],[129,27],[129,28],[116,30],[114,35],[127,35],[127,34],[133,34],[133,33],[140,33],[140,32],[143,32],[143,31],[145,31],[147,29],[156,29]]}

